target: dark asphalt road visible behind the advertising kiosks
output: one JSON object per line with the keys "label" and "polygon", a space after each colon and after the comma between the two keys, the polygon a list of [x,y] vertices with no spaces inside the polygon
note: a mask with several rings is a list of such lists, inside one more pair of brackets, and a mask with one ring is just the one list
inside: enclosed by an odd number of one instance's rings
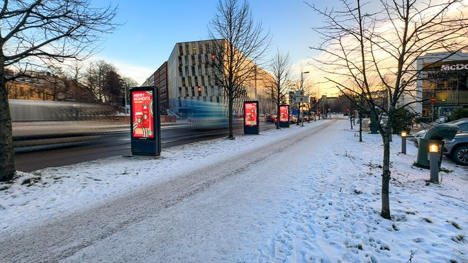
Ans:
{"label": "dark asphalt road visible behind the advertising kiosks", "polygon": [[[260,123],[260,130],[274,128],[273,123]],[[235,126],[234,134],[242,134],[243,127]],[[161,147],[183,145],[201,140],[222,138],[228,135],[227,129],[192,130],[186,125],[167,125],[161,128]],[[15,155],[16,169],[32,172],[45,167],[60,167],[118,155],[130,155],[130,135],[125,133],[111,133],[100,135],[92,142],[74,147],[58,147],[50,150],[36,150],[19,152]]]}

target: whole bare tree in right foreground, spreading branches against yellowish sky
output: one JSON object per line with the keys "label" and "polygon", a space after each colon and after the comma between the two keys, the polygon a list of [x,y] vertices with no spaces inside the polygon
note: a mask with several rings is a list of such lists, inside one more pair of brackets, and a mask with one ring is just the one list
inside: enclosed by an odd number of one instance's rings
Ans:
{"label": "whole bare tree in right foreground, spreading branches against yellowish sky", "polygon": [[[413,99],[401,106],[420,103],[422,99],[413,88],[421,73],[416,66],[418,57],[443,51],[447,54],[443,60],[467,48],[468,21],[464,18],[467,6],[462,0],[381,0],[381,11],[376,12],[374,3],[373,6],[359,0],[341,3],[342,10],[322,10],[309,4],[325,18],[325,26],[316,28],[323,43],[312,48],[327,55],[318,61],[328,73],[329,82],[348,94],[364,95],[362,99],[368,103],[372,118],[381,112],[388,115],[386,126],[378,125],[384,142],[381,216],[391,218],[391,129],[386,127],[395,121],[402,96],[411,95]],[[371,8],[372,11],[366,11]],[[379,86],[369,81],[374,77],[380,80]],[[359,89],[349,88],[347,81]],[[384,94],[386,103],[379,103],[379,92]]]}

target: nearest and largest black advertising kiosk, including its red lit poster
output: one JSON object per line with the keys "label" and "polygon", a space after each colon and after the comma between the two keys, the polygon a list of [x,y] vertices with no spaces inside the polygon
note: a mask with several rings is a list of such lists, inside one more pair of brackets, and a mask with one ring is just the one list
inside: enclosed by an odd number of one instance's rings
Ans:
{"label": "nearest and largest black advertising kiosk, including its red lit poster", "polygon": [[161,154],[161,117],[155,86],[130,89],[130,143],[132,155]]}

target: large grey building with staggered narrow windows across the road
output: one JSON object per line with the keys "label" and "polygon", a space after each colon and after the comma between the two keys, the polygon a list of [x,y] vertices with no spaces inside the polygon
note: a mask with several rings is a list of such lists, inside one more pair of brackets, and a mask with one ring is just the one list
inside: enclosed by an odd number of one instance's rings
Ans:
{"label": "large grey building with staggered narrow windows across the road", "polygon": [[[213,77],[215,72],[209,65],[213,55],[211,53],[213,41],[225,40],[176,43],[169,59],[163,64],[166,65],[167,103],[161,102],[161,104],[173,114],[178,115],[181,108],[191,106],[193,101],[227,104],[225,91],[216,83],[216,78]],[[152,84],[158,86],[155,74],[160,74],[159,78],[164,79],[162,77],[164,73],[160,69],[152,74],[143,86],[152,86]],[[235,113],[242,114],[244,100],[255,99],[260,103],[260,113],[274,112],[274,103],[270,98],[271,95],[268,95],[269,81],[272,77],[260,67],[256,69],[255,77],[244,83],[245,94],[234,103]],[[161,101],[163,100],[165,99],[161,97]]]}

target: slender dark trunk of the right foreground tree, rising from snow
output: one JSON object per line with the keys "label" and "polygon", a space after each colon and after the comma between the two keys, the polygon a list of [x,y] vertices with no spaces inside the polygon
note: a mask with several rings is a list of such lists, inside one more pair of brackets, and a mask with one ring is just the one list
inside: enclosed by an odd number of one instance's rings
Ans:
{"label": "slender dark trunk of the right foreground tree, rising from snow", "polygon": [[390,130],[386,129],[382,135],[384,140],[384,165],[382,169],[382,190],[381,190],[381,216],[390,219],[390,198],[389,198],[389,182],[390,182]]}

